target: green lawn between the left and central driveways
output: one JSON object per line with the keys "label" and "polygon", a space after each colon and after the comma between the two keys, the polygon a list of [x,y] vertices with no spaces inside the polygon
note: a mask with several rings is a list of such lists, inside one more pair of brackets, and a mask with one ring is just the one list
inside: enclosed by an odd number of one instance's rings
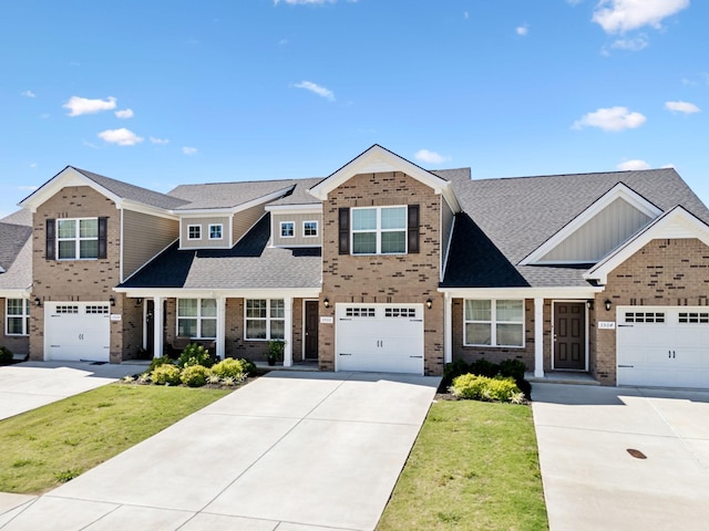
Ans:
{"label": "green lawn between the left and central driveways", "polygon": [[58,487],[230,391],[112,384],[0,420],[0,492]]}

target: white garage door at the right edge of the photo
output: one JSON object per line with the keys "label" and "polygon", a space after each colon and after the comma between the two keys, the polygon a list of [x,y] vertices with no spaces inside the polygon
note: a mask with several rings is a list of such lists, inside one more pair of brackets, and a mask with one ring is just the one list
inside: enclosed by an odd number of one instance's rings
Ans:
{"label": "white garage door at the right edge of the photo", "polygon": [[618,308],[618,385],[709,387],[709,308]]}

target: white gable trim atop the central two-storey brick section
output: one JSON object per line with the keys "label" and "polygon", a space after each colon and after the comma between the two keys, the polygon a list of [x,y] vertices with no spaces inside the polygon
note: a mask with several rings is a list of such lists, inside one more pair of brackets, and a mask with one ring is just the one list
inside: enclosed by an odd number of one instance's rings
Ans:
{"label": "white gable trim atop the central two-storey brick section", "polygon": [[321,201],[325,201],[327,200],[330,191],[335,190],[356,175],[377,174],[382,171],[403,171],[408,176],[433,188],[435,194],[442,194],[454,214],[461,211],[460,204],[453,194],[451,183],[427,171],[420,166],[410,163],[405,158],[391,153],[389,149],[386,149],[378,144],[374,144],[329,177],[318,183],[316,186],[310,188],[308,192]]}

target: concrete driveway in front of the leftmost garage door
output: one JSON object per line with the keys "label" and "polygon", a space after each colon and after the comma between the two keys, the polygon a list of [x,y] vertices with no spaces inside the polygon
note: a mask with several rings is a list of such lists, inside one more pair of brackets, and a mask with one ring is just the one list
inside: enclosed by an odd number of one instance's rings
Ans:
{"label": "concrete driveway in front of the leftmost garage door", "polygon": [[88,362],[24,362],[0,367],[0,420],[144,369],[138,365]]}

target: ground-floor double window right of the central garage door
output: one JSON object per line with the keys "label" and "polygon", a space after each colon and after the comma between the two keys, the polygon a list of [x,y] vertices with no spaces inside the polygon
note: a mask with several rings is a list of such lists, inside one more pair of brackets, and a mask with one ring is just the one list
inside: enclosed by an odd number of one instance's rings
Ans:
{"label": "ground-floor double window right of the central garage door", "polygon": [[465,345],[524,346],[523,300],[466,300]]}

